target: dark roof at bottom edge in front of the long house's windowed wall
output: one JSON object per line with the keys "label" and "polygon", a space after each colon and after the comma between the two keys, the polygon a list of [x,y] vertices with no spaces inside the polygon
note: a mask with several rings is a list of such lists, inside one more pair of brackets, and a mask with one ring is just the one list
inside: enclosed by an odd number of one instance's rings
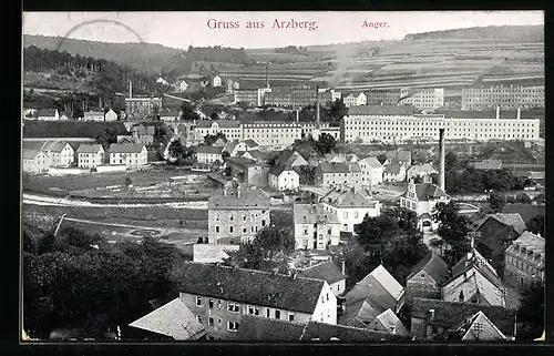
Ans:
{"label": "dark roof at bottom edge in front of the long house's windowed wall", "polygon": [[267,317],[242,315],[237,340],[294,342],[299,340],[306,325]]}

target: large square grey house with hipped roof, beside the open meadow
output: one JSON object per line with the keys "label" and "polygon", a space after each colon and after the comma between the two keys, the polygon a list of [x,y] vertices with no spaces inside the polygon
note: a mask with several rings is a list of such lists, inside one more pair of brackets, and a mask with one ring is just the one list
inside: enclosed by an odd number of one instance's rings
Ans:
{"label": "large square grey house with hipped roof, beside the open meadow", "polygon": [[252,241],[269,226],[269,195],[263,190],[235,184],[212,193],[208,200],[208,242]]}

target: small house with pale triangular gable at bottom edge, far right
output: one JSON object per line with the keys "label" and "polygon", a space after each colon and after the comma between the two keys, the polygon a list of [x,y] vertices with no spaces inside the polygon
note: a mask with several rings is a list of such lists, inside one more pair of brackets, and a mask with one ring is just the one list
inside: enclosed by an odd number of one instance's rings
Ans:
{"label": "small house with pale triangular gable at bottom edge, far right", "polygon": [[494,342],[514,339],[515,338],[505,336],[482,311],[476,312],[435,337],[435,340],[445,342]]}

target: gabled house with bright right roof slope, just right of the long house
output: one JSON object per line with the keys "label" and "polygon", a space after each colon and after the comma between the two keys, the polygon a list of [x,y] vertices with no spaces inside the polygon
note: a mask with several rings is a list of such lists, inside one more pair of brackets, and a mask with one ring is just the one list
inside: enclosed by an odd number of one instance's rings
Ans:
{"label": "gabled house with bright right roof slope, just right of the long house", "polygon": [[368,327],[387,309],[399,313],[404,303],[403,295],[400,283],[379,265],[346,294],[345,312],[338,323]]}

